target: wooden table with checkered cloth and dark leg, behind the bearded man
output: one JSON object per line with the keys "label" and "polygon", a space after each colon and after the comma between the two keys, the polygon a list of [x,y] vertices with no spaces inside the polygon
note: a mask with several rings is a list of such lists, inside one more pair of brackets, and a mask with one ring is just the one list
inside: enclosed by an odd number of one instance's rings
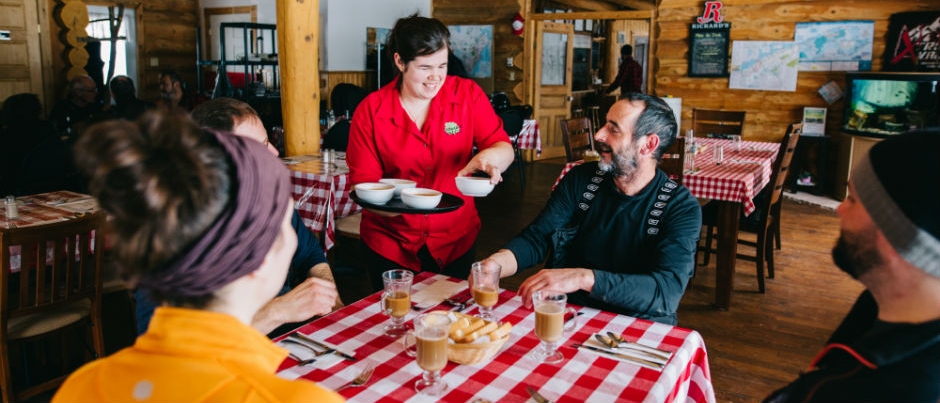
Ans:
{"label": "wooden table with checkered cloth and dark leg, behind the bearded man", "polygon": [[[779,143],[741,142],[741,151],[731,140],[696,138],[695,171],[686,172],[682,184],[693,196],[709,199],[718,206],[718,252],[715,262],[715,305],[722,310],[731,307],[734,265],[738,253],[738,221],[741,211],[750,215],[756,209],[754,196],[770,182]],[[716,165],[713,147],[722,145],[725,162]],[[571,168],[584,161],[569,162],[562,169],[555,185]]]}

